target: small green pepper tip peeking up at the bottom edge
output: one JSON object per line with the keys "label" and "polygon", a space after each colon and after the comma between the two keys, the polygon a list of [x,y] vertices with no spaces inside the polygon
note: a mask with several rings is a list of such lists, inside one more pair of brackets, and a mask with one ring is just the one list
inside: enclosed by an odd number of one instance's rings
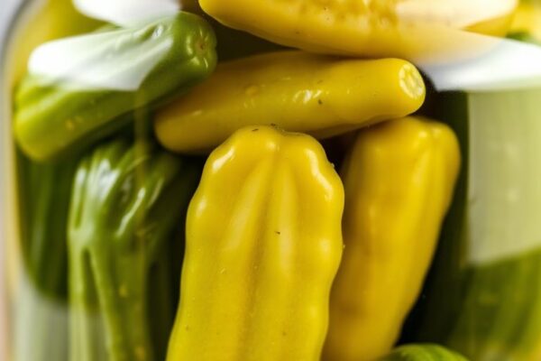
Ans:
{"label": "small green pepper tip peeking up at the bottom edge", "polygon": [[433,344],[404,345],[380,361],[467,361],[454,351]]}

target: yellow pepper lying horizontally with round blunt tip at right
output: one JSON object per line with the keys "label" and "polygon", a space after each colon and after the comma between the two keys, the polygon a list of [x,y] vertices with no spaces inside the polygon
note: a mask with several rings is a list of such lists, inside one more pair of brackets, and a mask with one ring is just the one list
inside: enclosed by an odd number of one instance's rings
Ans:
{"label": "yellow pepper lying horizontally with round blunt tip at right", "polygon": [[405,60],[337,60],[280,51],[218,65],[205,83],[160,111],[156,133],[176,152],[204,152],[247,125],[325,138],[408,116],[425,84]]}

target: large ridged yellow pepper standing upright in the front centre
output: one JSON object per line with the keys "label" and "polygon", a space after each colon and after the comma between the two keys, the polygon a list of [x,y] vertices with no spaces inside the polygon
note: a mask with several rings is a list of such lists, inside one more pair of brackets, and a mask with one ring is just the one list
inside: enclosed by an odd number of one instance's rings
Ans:
{"label": "large ridged yellow pepper standing upright in the front centre", "polygon": [[219,146],[188,208],[167,360],[319,360],[343,207],[307,135],[252,126]]}

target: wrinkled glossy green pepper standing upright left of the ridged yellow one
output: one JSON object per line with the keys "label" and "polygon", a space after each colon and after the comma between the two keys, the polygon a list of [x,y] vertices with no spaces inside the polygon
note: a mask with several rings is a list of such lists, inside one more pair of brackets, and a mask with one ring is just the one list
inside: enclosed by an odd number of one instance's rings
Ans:
{"label": "wrinkled glossy green pepper standing upright left of the ridged yellow one", "polygon": [[154,336],[168,335],[175,306],[161,271],[198,173],[151,143],[125,139],[79,163],[68,228],[71,361],[164,358],[167,336]]}

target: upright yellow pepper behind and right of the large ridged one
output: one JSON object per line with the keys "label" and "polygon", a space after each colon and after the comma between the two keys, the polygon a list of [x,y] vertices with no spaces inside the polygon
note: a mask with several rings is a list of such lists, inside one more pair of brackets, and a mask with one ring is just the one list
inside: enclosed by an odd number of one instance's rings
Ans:
{"label": "upright yellow pepper behind and right of the large ridged one", "polygon": [[325,360],[390,351],[413,307],[453,196],[460,150],[446,125],[407,117],[362,131],[344,180],[344,259]]}

